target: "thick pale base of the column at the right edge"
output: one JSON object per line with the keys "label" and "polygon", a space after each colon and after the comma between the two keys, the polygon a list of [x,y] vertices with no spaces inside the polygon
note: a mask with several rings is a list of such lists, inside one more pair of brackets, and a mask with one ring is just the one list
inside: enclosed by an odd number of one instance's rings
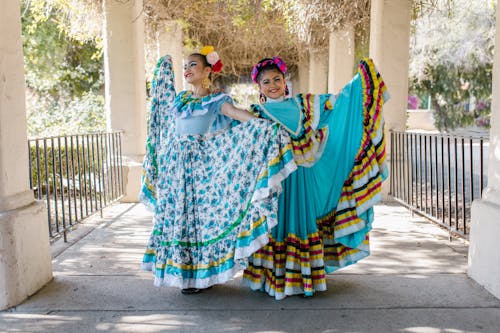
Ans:
{"label": "thick pale base of the column at the right edge", "polygon": [[500,205],[475,200],[471,214],[468,275],[500,299]]}

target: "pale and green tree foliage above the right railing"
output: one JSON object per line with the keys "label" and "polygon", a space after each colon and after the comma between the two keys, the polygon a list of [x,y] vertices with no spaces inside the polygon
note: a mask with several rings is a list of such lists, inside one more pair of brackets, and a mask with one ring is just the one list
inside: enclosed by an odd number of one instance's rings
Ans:
{"label": "pale and green tree foliage above the right railing", "polygon": [[442,5],[413,22],[410,94],[431,97],[439,130],[489,127],[494,5]]}

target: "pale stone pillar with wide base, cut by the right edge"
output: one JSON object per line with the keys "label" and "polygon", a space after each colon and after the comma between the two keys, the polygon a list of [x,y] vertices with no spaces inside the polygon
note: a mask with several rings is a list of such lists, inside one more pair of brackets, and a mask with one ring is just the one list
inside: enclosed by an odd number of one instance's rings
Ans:
{"label": "pale stone pillar with wide base, cut by the right edge", "polygon": [[[496,11],[495,45],[500,45],[500,6]],[[492,96],[488,187],[472,203],[468,274],[500,298],[500,52],[493,60]]]}

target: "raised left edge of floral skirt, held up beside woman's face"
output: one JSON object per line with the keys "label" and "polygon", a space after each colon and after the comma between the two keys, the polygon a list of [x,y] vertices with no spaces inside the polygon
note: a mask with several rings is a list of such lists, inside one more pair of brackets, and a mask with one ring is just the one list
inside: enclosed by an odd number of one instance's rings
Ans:
{"label": "raised left edge of floral skirt, held up beside woman's face", "polygon": [[166,55],[158,61],[151,84],[151,112],[139,193],[139,201],[150,209],[156,205],[158,152],[175,135],[174,122],[169,116],[175,99],[174,82],[172,58]]}

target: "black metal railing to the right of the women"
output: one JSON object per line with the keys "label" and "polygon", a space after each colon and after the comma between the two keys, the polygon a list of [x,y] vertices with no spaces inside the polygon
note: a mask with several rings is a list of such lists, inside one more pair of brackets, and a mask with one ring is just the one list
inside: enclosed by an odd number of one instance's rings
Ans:
{"label": "black metal railing to the right of the women", "polygon": [[487,184],[488,139],[391,132],[391,195],[467,238],[472,201]]}

